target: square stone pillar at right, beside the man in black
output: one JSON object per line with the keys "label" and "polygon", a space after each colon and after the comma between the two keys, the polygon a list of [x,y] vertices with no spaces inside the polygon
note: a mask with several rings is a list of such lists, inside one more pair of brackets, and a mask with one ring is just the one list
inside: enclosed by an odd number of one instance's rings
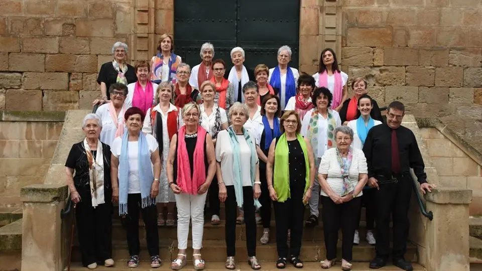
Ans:
{"label": "square stone pillar at right, beside the man in black", "polygon": [[428,271],[468,271],[468,206],[472,191],[459,188],[436,188],[425,195],[427,210],[433,220],[426,224],[425,267]]}

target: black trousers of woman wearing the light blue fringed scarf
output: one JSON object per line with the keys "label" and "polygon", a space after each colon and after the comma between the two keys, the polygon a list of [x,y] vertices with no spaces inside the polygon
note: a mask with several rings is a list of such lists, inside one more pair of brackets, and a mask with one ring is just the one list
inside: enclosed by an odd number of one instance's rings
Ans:
{"label": "black trousers of woman wearing the light blue fringed scarf", "polygon": [[126,226],[127,244],[129,254],[139,255],[141,245],[139,243],[139,213],[142,213],[146,228],[147,249],[149,255],[159,255],[159,232],[157,231],[157,207],[156,204],[141,208],[141,193],[129,194],[127,197],[128,214],[122,218]]}

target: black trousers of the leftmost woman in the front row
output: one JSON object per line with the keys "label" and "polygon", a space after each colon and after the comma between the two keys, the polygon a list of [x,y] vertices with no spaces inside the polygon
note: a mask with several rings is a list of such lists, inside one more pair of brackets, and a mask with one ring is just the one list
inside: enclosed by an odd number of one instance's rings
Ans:
{"label": "black trousers of the leftmost woman in the front row", "polygon": [[77,188],[81,201],[75,208],[82,265],[104,264],[112,257],[112,190],[104,190],[105,203],[92,207],[90,186]]}

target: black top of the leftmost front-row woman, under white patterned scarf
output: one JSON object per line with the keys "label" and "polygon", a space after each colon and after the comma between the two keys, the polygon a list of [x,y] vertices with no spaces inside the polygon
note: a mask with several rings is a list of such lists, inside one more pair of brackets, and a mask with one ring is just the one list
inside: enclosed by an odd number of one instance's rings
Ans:
{"label": "black top of the leftmost front-row woman, under white patterned scarf", "polygon": [[[99,141],[99,143],[101,143]],[[104,188],[110,188],[110,147],[107,144],[102,144],[102,153],[104,155]],[[97,151],[92,151],[92,156],[95,158]],[[87,154],[85,153],[84,142],[81,141],[72,145],[69,156],[65,162],[65,166],[75,170],[74,184],[79,189],[90,190],[89,178],[89,162],[87,161]]]}

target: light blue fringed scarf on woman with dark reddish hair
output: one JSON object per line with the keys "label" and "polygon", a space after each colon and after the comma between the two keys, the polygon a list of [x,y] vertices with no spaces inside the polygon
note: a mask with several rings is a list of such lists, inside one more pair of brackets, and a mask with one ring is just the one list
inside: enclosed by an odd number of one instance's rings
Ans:
{"label": "light blue fringed scarf on woman with dark reddish hair", "polygon": [[[126,131],[122,137],[121,156],[119,156],[119,214],[127,214],[127,197],[129,193],[129,135]],[[141,184],[142,208],[156,204],[156,198],[151,198],[151,186],[154,181],[152,173],[151,153],[146,135],[139,133],[139,182]]]}

